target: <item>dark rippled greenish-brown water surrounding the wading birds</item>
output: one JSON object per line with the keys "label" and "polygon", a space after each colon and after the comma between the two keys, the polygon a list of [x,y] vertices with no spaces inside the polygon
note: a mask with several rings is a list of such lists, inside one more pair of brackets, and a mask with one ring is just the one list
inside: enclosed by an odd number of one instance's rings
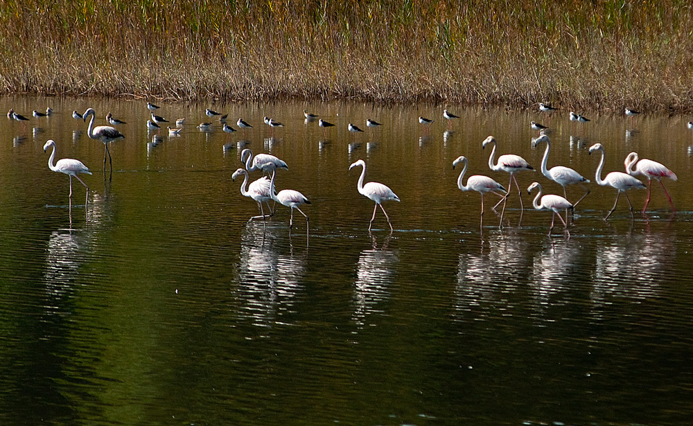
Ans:
{"label": "dark rippled greenish-brown water surrounding the wading birds", "polygon": [[[0,422],[3,425],[681,425],[693,411],[693,134],[687,118],[593,116],[469,109],[444,133],[439,109],[358,104],[214,105],[252,123],[227,135],[195,125],[212,105],[162,105],[186,116],[181,137],[152,143],[144,101],[1,98],[55,109],[26,128],[0,127]],[[128,121],[110,145],[87,138],[73,109]],[[304,108],[337,124],[325,140]],[[451,108],[455,109],[455,108]],[[270,139],[268,115],[286,124]],[[430,136],[416,121],[435,118]],[[346,125],[384,125],[351,139]],[[606,148],[606,172],[633,150],[677,173],[648,215],[592,184],[570,229],[547,236],[550,214],[516,194],[506,227],[486,199],[456,187],[491,172],[499,153],[538,168],[529,121],[550,125],[549,166],[589,179]],[[423,137],[422,137],[423,136]],[[42,147],[83,161],[84,188],[47,167]],[[244,141],[244,142],[243,142]],[[225,149],[225,144],[229,148]],[[351,144],[351,145],[350,145]],[[312,204],[288,230],[288,209],[267,222],[231,175],[239,148],[289,164],[277,188]],[[385,204],[395,231],[356,191],[360,170],[401,198]],[[253,177],[258,177],[254,173]],[[518,175],[523,189],[538,172]],[[579,188],[570,188],[577,197]],[[630,194],[637,211],[644,191]],[[523,195],[525,206],[530,199]]]}

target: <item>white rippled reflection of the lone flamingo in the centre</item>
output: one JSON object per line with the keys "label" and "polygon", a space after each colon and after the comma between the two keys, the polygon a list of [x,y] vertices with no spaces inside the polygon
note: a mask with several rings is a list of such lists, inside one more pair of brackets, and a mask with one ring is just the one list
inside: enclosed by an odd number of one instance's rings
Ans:
{"label": "white rippled reflection of the lone flamingo in the centre", "polygon": [[397,251],[387,249],[390,236],[378,248],[376,238],[371,235],[372,248],[361,251],[356,266],[356,283],[353,292],[354,312],[352,318],[359,326],[365,325],[366,315],[376,310],[376,305],[389,298],[394,265],[398,263]]}

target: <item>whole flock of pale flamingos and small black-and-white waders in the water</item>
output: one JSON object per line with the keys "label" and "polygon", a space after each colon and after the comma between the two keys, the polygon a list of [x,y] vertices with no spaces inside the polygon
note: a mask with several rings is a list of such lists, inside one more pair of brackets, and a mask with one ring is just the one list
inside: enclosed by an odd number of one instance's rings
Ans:
{"label": "whole flock of pale flamingos and small black-and-white waders in the water", "polygon": [[[157,116],[154,114],[154,111],[156,109],[159,109],[157,105],[154,105],[152,103],[147,103],[148,109],[150,109],[151,112],[151,119],[147,121],[147,127],[149,130],[158,130],[161,126],[161,123],[168,123],[168,120],[161,116]],[[544,103],[539,103],[539,109],[542,112],[547,112],[551,113],[556,108],[551,107],[550,105],[544,104]],[[53,114],[53,110],[49,107],[46,109],[46,113],[41,113],[34,111],[33,116],[40,118],[42,116],[50,116]],[[234,129],[233,127],[227,125],[226,120],[227,120],[227,115],[223,115],[215,112],[211,109],[207,109],[205,111],[205,114],[209,117],[218,117],[220,123],[223,124],[222,129],[227,132],[236,132],[237,130]],[[639,112],[634,111],[633,109],[626,108],[625,109],[625,115],[626,116],[635,116],[640,114]],[[21,114],[17,114],[14,112],[13,109],[10,109],[10,111],[7,114],[8,118],[19,121],[19,122],[24,122],[28,121],[28,118],[25,116],[22,116]],[[93,108],[87,109],[84,114],[79,114],[76,111],[72,112],[73,118],[78,118],[82,119],[83,121],[87,121],[87,118],[91,116],[91,120],[89,121],[89,127],[88,127],[88,132],[87,134],[89,135],[89,138],[91,139],[96,139],[98,141],[103,142],[105,146],[105,152],[104,152],[104,157],[103,157],[103,163],[104,163],[104,172],[105,172],[105,164],[106,164],[106,158],[109,160],[109,165],[111,166],[112,170],[112,160],[111,160],[111,154],[108,150],[108,143],[112,141],[116,141],[118,139],[123,139],[125,136],[119,130],[117,130],[115,127],[112,127],[110,125],[99,125],[94,127],[94,117],[96,116],[96,112],[94,111]],[[316,114],[310,114],[304,109],[304,116],[306,116],[306,119],[309,121],[315,121],[315,118],[318,118]],[[450,125],[450,121],[459,118],[459,116],[456,116],[455,114],[452,114],[448,112],[447,109],[444,109],[443,111],[443,117],[448,120],[448,127]],[[124,121],[117,120],[112,116],[112,114],[107,114],[106,116],[106,121],[107,123],[111,125],[121,125],[125,124]],[[168,127],[168,132],[169,134],[178,134],[182,129],[179,128],[184,124],[185,118],[179,118],[176,120],[176,125],[177,128],[172,128]],[[574,112],[570,112],[570,121],[575,121],[579,123],[586,123],[590,121],[588,118],[585,118],[582,115],[575,114]],[[275,127],[283,127],[283,124],[280,123],[279,121],[275,121],[273,118],[264,118],[264,122],[266,125],[270,126],[272,130],[274,130]],[[434,120],[424,118],[424,117],[419,117],[419,123],[421,125],[426,126],[426,130],[428,130],[428,126],[430,126],[431,123],[433,123]],[[243,129],[243,132],[245,134],[245,130],[247,128],[253,127],[249,123],[243,121],[242,118],[238,118],[238,121],[236,122],[238,127],[240,129]],[[324,121],[322,118],[319,119],[319,126],[323,128],[323,130],[326,132],[326,129],[328,127],[333,127],[334,125],[332,123],[328,123],[327,121]],[[211,127],[212,123],[200,123],[198,125],[198,128],[200,130],[209,130]],[[373,121],[371,119],[368,119],[366,121],[367,127],[377,127],[381,125],[380,123]],[[587,179],[586,177],[582,176],[579,174],[579,172],[573,170],[572,168],[568,168],[565,166],[554,166],[550,169],[547,168],[547,161],[549,157],[549,152],[551,149],[551,143],[548,138],[548,136],[545,134],[545,131],[547,130],[548,127],[543,126],[539,123],[536,123],[532,121],[530,123],[530,126],[532,129],[537,130],[539,132],[539,135],[536,139],[533,139],[534,146],[538,146],[541,143],[546,144],[546,150],[544,151],[543,159],[541,161],[541,172],[542,174],[547,177],[548,179],[556,182],[557,184],[561,185],[563,187],[563,197],[561,195],[542,195],[542,190],[541,190],[541,184],[538,182],[533,182],[529,188],[527,188],[528,193],[532,193],[533,190],[537,190],[536,196],[534,197],[534,201],[532,202],[532,205],[536,210],[545,210],[545,211],[551,211],[552,212],[552,219],[551,219],[551,227],[549,229],[549,235],[551,235],[551,231],[554,228],[554,221],[556,219],[556,216],[561,220],[563,223],[563,228],[565,229],[565,233],[570,236],[570,231],[568,231],[568,211],[574,211],[575,206],[579,204],[589,193],[590,190],[585,184],[589,184],[590,180]],[[689,122],[688,127],[693,130],[693,123]],[[358,126],[353,125],[352,123],[349,123],[348,126],[349,132],[352,133],[357,133],[357,132],[363,132]],[[518,185],[517,179],[515,178],[516,173],[521,172],[523,170],[534,170],[532,166],[529,165],[529,163],[520,157],[519,155],[515,154],[504,154],[498,157],[498,161],[494,164],[493,161],[495,159],[495,150],[497,146],[497,142],[495,141],[495,138],[493,136],[488,136],[484,142],[482,143],[482,148],[486,148],[487,145],[493,145],[493,148],[491,149],[491,155],[489,157],[489,168],[493,171],[503,171],[507,172],[510,175],[510,179],[508,182],[508,188],[506,189],[504,186],[499,184],[497,181],[491,179],[490,177],[487,176],[482,176],[482,175],[473,175],[468,177],[466,185],[462,183],[464,174],[467,170],[468,167],[468,161],[466,157],[460,156],[453,161],[453,168],[455,166],[458,166],[459,164],[463,164],[462,172],[459,173],[459,177],[457,178],[457,187],[460,190],[468,191],[468,190],[473,190],[481,195],[481,217],[483,219],[484,215],[484,194],[485,193],[492,193],[494,195],[497,195],[500,197],[498,200],[498,203],[493,206],[493,209],[495,211],[495,208],[498,207],[501,203],[503,204],[502,208],[502,213],[500,214],[500,227],[502,227],[503,223],[503,217],[505,215],[505,206],[507,204],[508,198],[510,196],[510,191],[509,189],[511,188],[511,185],[514,183],[515,187],[518,190],[518,195],[520,198],[520,211],[524,211],[524,205],[522,202],[522,190],[520,189],[520,186]],[[79,173],[86,173],[88,175],[91,175],[91,172],[89,171],[89,168],[85,166],[81,161],[76,160],[76,159],[60,159],[58,160],[57,163],[53,163],[55,160],[55,141],[50,139],[49,141],[46,142],[44,145],[44,152],[48,150],[49,148],[53,147],[53,151],[51,152],[51,157],[49,158],[49,168],[53,170],[54,172],[61,172],[64,173],[65,175],[68,175],[70,177],[70,203],[72,199],[72,177],[76,177],[78,181],[82,185],[87,188],[87,197],[86,197],[86,203],[89,202],[89,186],[85,184],[82,179],[78,176]],[[601,186],[609,186],[611,188],[614,188],[616,192],[616,200],[613,204],[613,207],[611,210],[608,212],[606,215],[606,218],[604,220],[607,220],[609,216],[615,211],[616,206],[618,204],[618,199],[623,193],[626,197],[626,200],[628,201],[629,208],[631,210],[631,218],[633,217],[633,204],[631,204],[631,200],[628,197],[628,193],[626,193],[627,190],[630,189],[644,189],[646,186],[640,181],[639,179],[636,179],[635,176],[637,175],[642,175],[647,178],[648,184],[647,184],[647,199],[645,200],[644,207],[642,208],[642,213],[647,209],[647,205],[649,204],[650,201],[650,195],[651,195],[651,184],[652,180],[656,180],[660,183],[662,186],[662,189],[664,190],[664,193],[667,195],[667,199],[669,199],[669,204],[672,206],[672,211],[674,213],[676,212],[676,208],[674,207],[674,202],[672,202],[672,197],[667,193],[667,189],[665,188],[662,179],[667,177],[672,180],[676,180],[676,175],[672,170],[669,170],[667,167],[665,167],[662,163],[658,163],[656,161],[652,161],[649,159],[638,159],[638,154],[636,152],[631,152],[626,156],[626,159],[624,160],[624,166],[626,169],[626,172],[610,172],[602,179],[602,169],[604,168],[604,147],[602,146],[601,143],[595,143],[590,147],[590,154],[592,154],[595,151],[601,151],[602,153],[602,159],[599,161],[599,165],[597,166],[597,171],[595,173],[595,181],[597,184]],[[300,206],[304,204],[310,204],[310,201],[308,198],[306,198],[303,194],[299,193],[297,190],[290,190],[290,189],[284,189],[281,190],[277,193],[277,190],[274,187],[274,177],[276,175],[277,168],[285,168],[288,170],[288,166],[286,162],[282,161],[281,159],[275,157],[274,155],[271,154],[256,154],[253,156],[253,153],[249,149],[245,149],[241,152],[240,154],[240,161],[245,165],[245,169],[239,168],[234,172],[233,179],[236,180],[236,177],[239,177],[240,175],[243,175],[244,180],[243,184],[240,186],[240,193],[244,195],[245,197],[249,197],[255,200],[257,202],[259,210],[260,210],[260,215],[253,216],[252,218],[249,219],[249,221],[252,221],[254,219],[262,219],[263,222],[265,222],[266,218],[274,215],[274,211],[272,208],[270,208],[270,200],[276,202],[279,202],[279,204],[283,206],[287,206],[290,208],[290,220],[289,220],[289,229],[292,228],[293,226],[293,211],[296,209],[301,213],[301,215],[304,215],[306,218],[306,233],[309,231],[309,220],[308,220],[308,215],[301,211]],[[356,186],[358,192],[365,197],[368,197],[372,201],[375,202],[375,206],[373,209],[373,215],[371,216],[371,220],[369,223],[368,230],[371,231],[371,227],[373,226],[373,222],[376,218],[376,213],[378,211],[378,206],[380,206],[380,209],[383,211],[383,214],[385,215],[385,218],[387,219],[387,223],[389,224],[390,227],[390,232],[393,231],[392,227],[392,222],[389,220],[389,216],[387,215],[387,212],[385,211],[385,208],[383,208],[383,202],[385,201],[400,201],[399,197],[390,189],[388,186],[384,184],[380,184],[379,182],[367,182],[364,184],[364,178],[366,174],[366,163],[362,159],[359,159],[358,161],[354,162],[349,166],[349,170],[355,167],[361,167],[361,174],[360,177],[358,178],[358,184]],[[256,179],[255,181],[252,181],[250,184],[248,184],[249,180],[249,175],[248,172],[253,172],[256,170],[262,170],[263,171],[263,177]],[[271,179],[268,179],[264,174],[265,172],[269,175],[271,173],[272,177]],[[570,202],[568,201],[568,195],[565,191],[565,186],[568,185],[579,185],[582,188],[584,188],[585,192],[584,195],[582,195],[577,202]],[[264,208],[262,203],[267,204],[267,208],[269,209],[269,212],[265,214]],[[565,220],[563,217],[561,217],[561,213],[565,211]]]}

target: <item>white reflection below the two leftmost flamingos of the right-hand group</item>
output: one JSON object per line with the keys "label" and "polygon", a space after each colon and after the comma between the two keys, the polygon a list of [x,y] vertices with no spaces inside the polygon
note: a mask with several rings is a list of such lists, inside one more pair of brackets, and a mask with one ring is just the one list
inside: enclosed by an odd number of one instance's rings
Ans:
{"label": "white reflection below the two leftmost flamingos of the right-hand group", "polygon": [[488,251],[460,254],[455,287],[456,310],[482,310],[484,316],[507,314],[509,295],[517,290],[520,277],[531,269],[525,251],[527,241],[515,233],[496,233]]}

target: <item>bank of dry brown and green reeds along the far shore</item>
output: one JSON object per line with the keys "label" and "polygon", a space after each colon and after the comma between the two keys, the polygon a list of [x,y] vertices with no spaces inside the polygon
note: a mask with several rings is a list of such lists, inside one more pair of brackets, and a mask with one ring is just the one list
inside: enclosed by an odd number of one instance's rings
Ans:
{"label": "bank of dry brown and green reeds along the far shore", "polygon": [[0,0],[6,92],[693,110],[688,2]]}

